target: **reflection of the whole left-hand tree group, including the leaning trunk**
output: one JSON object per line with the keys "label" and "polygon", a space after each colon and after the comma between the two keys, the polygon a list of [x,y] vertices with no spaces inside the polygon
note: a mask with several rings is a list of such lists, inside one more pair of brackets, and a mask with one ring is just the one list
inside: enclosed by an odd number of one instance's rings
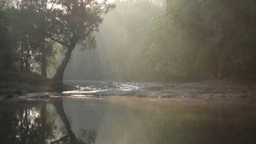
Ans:
{"label": "reflection of the whole left-hand tree group, including the leaning trunk", "polygon": [[[81,129],[76,137],[63,110],[62,100],[53,101],[56,111],[51,113],[46,110],[46,104],[43,101],[1,103],[0,143],[94,143],[94,131]],[[56,122],[57,115],[65,126],[62,129]],[[57,134],[65,136],[56,140]]]}

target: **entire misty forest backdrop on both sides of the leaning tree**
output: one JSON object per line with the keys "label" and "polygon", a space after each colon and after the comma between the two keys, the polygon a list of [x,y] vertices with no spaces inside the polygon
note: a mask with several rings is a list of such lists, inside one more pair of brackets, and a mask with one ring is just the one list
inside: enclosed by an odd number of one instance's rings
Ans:
{"label": "entire misty forest backdrop on both sides of the leaning tree", "polygon": [[[77,47],[70,52],[65,79],[176,81],[255,76],[255,1],[128,0],[115,1],[116,7],[105,2],[107,6],[93,16],[95,29],[90,35],[82,30],[70,49],[64,43],[72,40],[75,20],[61,23],[59,18],[66,17],[58,15],[60,8],[51,11],[46,5],[42,9],[38,4],[44,2],[1,0],[0,69],[46,77],[47,69],[57,68],[67,52]],[[62,6],[64,2],[73,1],[63,1]],[[75,17],[74,12],[69,16]],[[79,15],[76,18],[79,21]]]}

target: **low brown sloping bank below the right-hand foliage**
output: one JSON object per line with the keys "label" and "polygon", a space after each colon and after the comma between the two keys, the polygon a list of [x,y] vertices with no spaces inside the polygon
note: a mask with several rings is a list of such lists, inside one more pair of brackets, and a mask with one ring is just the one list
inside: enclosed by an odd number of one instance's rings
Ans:
{"label": "low brown sloping bank below the right-hand foliage", "polygon": [[202,82],[164,83],[130,91],[123,95],[153,98],[256,100],[256,84],[244,83],[230,77],[225,79],[207,79]]}

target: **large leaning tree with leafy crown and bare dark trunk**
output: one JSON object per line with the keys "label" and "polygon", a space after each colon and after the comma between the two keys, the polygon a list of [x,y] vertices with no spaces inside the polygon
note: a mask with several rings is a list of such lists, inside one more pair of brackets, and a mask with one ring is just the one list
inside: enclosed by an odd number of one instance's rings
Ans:
{"label": "large leaning tree with leafy crown and bare dark trunk", "polygon": [[89,49],[95,47],[93,31],[98,30],[102,14],[114,9],[115,5],[108,4],[106,0],[101,3],[94,0],[58,0],[57,3],[61,8],[52,11],[47,35],[67,49],[65,58],[53,77],[55,81],[62,83],[71,52],[77,44],[83,44]]}

